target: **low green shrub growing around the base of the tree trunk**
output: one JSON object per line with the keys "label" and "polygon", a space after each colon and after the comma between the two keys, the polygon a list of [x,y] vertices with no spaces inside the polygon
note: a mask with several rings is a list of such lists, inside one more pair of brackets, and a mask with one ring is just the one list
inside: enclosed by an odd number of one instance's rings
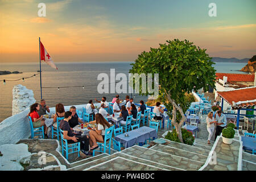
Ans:
{"label": "low green shrub growing around the base of the tree trunk", "polygon": [[[181,135],[182,135],[183,142],[185,144],[189,144],[191,146],[193,145],[195,141],[195,137],[193,137],[191,132],[189,132],[186,129],[181,129]],[[176,130],[172,130],[172,132],[169,131],[165,138],[168,140],[180,143]]]}

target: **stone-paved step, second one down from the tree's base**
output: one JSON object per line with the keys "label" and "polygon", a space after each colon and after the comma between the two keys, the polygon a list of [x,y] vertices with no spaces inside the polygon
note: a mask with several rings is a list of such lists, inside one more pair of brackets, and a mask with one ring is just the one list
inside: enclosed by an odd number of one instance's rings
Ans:
{"label": "stone-paved step, second one down from the tree's base", "polygon": [[180,156],[187,159],[196,160],[199,162],[205,163],[207,160],[207,155],[202,155],[198,153],[194,153],[191,151],[185,151],[178,148],[170,147],[170,146],[164,146],[163,144],[156,144],[155,146],[151,147],[151,149],[160,151],[160,152],[166,152],[168,154]]}

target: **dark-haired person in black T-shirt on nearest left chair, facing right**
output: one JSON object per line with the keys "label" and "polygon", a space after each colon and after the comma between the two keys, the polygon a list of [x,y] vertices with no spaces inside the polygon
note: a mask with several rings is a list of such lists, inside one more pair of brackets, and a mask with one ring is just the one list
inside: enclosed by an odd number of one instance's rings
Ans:
{"label": "dark-haired person in black T-shirt on nearest left chair, facing right", "polygon": [[68,140],[68,143],[80,142],[80,155],[86,158],[89,155],[89,137],[74,134],[69,126],[68,121],[72,118],[71,111],[65,112],[64,119],[60,121],[60,129],[63,130],[63,138]]}

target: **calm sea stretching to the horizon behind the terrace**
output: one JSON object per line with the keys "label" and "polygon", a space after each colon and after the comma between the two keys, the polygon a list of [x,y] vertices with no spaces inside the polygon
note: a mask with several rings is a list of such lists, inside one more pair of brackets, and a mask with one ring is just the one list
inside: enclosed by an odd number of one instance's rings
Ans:
{"label": "calm sea stretching to the horizon behind the terrace", "polygon": [[[105,96],[107,101],[112,101],[117,93],[103,93],[97,91],[97,87],[102,82],[98,80],[100,73],[106,73],[109,76],[110,84],[110,69],[115,69],[115,76],[118,73],[125,73],[128,80],[128,73],[133,62],[71,62],[71,63],[56,63],[57,70],[42,63],[42,97],[46,100],[49,107],[55,107],[56,104],[63,105],[80,105],[87,104],[89,100],[101,100]],[[216,72],[219,73],[241,73],[240,72],[246,63],[216,63],[213,65]],[[39,63],[0,63],[0,71],[19,71],[19,74],[0,75],[0,122],[12,115],[13,101],[13,86],[21,84],[31,89],[34,92],[34,98],[40,102],[40,70]],[[36,76],[33,76],[38,74]],[[31,77],[33,76],[33,77]],[[20,78],[26,78],[18,80]],[[18,81],[9,81],[18,80]],[[124,82],[126,80],[123,80]],[[120,81],[116,81],[120,82]],[[111,86],[111,85],[110,85]],[[127,87],[128,88],[128,87]],[[110,91],[110,89],[109,89]],[[139,96],[139,94],[120,93],[122,100],[125,96],[134,97],[134,103],[139,103],[140,100],[147,101],[147,96]]]}

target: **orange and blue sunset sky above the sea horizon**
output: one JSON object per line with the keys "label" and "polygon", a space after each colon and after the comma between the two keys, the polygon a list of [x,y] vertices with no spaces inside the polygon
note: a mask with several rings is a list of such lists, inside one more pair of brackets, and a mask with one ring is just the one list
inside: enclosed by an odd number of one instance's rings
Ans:
{"label": "orange and blue sunset sky above the sea horizon", "polygon": [[[216,17],[208,15],[212,2]],[[0,63],[38,61],[39,36],[55,62],[134,61],[173,39],[212,57],[250,58],[255,7],[255,0],[0,0]]]}

